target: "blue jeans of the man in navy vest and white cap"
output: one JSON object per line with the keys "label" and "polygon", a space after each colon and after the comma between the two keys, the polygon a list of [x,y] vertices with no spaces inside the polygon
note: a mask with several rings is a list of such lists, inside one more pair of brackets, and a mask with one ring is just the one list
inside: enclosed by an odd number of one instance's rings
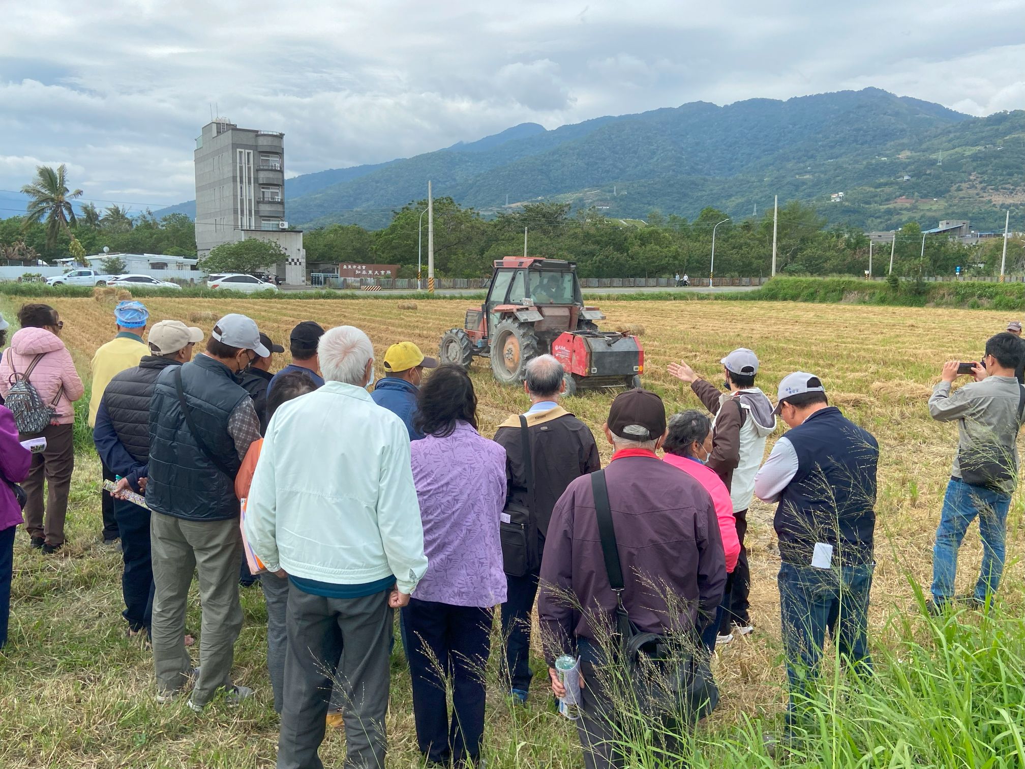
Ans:
{"label": "blue jeans of the man in navy vest and white cap", "polygon": [[848,664],[871,672],[868,598],[874,570],[875,564],[817,569],[784,561],[780,566],[783,650],[790,683],[788,722],[818,675],[826,631]]}

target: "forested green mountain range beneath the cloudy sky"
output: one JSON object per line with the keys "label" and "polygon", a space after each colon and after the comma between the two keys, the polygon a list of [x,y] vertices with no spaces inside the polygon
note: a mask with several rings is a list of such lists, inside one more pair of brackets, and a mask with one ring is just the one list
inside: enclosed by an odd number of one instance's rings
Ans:
{"label": "forested green mountain range beneath the cloudy sky", "polygon": [[[552,130],[523,123],[412,158],[295,176],[285,202],[300,228],[380,228],[394,209],[424,199],[430,179],[435,196],[485,214],[547,200],[613,218],[652,210],[693,218],[706,206],[737,218],[778,195],[866,229],[968,218],[995,230],[1004,209],[1019,221],[1025,213],[1023,167],[1025,112],[975,118],[865,88],[694,102]],[[195,201],[155,213],[172,211],[194,216]]]}

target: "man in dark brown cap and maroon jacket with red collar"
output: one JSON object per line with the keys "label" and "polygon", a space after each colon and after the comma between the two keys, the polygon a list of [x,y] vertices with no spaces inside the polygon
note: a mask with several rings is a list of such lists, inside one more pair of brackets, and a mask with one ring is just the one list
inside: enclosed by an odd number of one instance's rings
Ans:
{"label": "man in dark brown cap and maroon jacket with red collar", "polygon": [[[640,633],[697,638],[726,586],[726,557],[711,497],[690,475],[659,459],[665,407],[646,390],[620,394],[605,436],[614,453],[604,471],[623,588],[613,591],[596,514],[592,476],[573,481],[556,503],[541,561],[538,617],[552,691],[565,695],[555,660],[580,657],[577,731],[588,769],[620,767],[621,726],[601,670],[618,602]],[[670,598],[671,597],[671,598]],[[576,607],[576,608],[574,608]],[[632,683],[632,682],[630,682]]]}

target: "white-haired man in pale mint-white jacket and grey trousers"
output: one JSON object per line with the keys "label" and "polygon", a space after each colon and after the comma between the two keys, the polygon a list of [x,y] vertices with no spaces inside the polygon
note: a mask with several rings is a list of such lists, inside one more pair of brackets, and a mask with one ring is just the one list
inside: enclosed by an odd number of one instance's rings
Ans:
{"label": "white-haired man in pale mint-white jacket and grey trousers", "polygon": [[363,331],[332,328],[317,353],[326,383],[275,412],[244,524],[290,583],[278,769],[323,766],[339,657],[345,766],[382,768],[393,612],[427,568],[409,434],[367,393],[374,350]]}

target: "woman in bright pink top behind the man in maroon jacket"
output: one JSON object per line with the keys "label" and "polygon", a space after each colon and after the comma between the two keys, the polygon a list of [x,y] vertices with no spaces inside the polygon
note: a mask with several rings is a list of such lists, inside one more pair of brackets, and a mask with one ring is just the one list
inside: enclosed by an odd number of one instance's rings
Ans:
{"label": "woman in bright pink top behind the man in maroon jacket", "polygon": [[[737,536],[737,522],[733,517],[733,502],[730,501],[730,490],[714,473],[704,466],[711,452],[711,421],[700,411],[684,411],[669,417],[668,435],[662,444],[665,455],[662,459],[674,468],[692,476],[700,483],[711,497],[715,508],[715,518],[719,519],[719,530],[723,535],[723,550],[726,554],[726,596],[730,595],[730,583],[733,581],[733,570],[740,557],[740,539]],[[714,650],[723,606],[720,606],[712,622],[702,634],[702,641]],[[719,637],[719,643],[728,644],[733,637]]]}

